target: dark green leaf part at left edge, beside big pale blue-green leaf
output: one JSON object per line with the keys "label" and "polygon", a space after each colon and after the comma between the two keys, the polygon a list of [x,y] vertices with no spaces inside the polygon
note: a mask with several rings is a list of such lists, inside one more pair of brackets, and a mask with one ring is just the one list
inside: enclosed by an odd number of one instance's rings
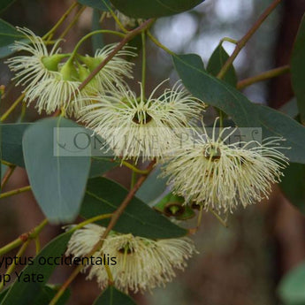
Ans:
{"label": "dark green leaf part at left edge, beside big pale blue-green leaf", "polygon": [[32,124],[3,124],[2,125],[2,159],[11,164],[24,167],[22,152],[22,137],[28,126]]}

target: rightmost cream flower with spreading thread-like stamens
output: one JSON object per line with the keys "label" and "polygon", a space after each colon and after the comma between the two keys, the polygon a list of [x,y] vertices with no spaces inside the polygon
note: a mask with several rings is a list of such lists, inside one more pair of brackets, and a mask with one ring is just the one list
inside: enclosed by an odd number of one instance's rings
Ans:
{"label": "rightmost cream flower with spreading thread-like stamens", "polygon": [[[232,128],[233,129],[233,128]],[[225,144],[234,129],[223,129],[216,136],[214,126],[210,137],[204,128],[193,141],[174,150],[172,159],[164,166],[164,176],[175,194],[187,202],[202,204],[208,209],[233,211],[239,204],[259,202],[268,197],[273,183],[280,181],[287,158],[280,149],[282,139]]]}

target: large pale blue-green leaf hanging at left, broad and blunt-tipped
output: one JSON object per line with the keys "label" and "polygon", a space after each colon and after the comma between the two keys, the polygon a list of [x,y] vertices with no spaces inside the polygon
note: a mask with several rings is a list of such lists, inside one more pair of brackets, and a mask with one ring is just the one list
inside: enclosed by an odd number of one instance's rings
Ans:
{"label": "large pale blue-green leaf hanging at left, broad and blunt-tipped", "polygon": [[90,156],[73,155],[69,147],[73,128],[87,133],[69,119],[45,118],[27,128],[23,136],[28,179],[52,223],[70,222],[77,217],[86,189]]}

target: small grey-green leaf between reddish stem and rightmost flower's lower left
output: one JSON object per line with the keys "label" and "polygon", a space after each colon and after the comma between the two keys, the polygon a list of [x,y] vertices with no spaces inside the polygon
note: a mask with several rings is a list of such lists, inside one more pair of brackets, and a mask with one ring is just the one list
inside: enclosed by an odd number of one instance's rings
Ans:
{"label": "small grey-green leaf between reddish stem and rightmost flower's lower left", "polygon": [[149,177],[144,181],[139,191],[137,192],[137,197],[142,202],[153,203],[155,200],[164,193],[166,189],[166,178],[158,178],[161,174],[160,167],[156,167],[153,172],[149,174]]}

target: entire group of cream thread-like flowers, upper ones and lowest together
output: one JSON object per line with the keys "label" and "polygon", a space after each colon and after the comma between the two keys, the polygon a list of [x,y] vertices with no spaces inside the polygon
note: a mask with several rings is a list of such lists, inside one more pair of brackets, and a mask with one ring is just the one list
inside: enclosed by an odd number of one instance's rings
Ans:
{"label": "entire group of cream thread-like flowers, upper ones and lowest together", "polygon": [[[41,37],[28,29],[19,29],[27,42],[16,42],[14,50],[27,51],[9,59],[17,72],[18,84],[25,85],[25,99],[35,102],[39,112],[61,109],[78,118],[101,135],[122,160],[156,159],[164,164],[164,176],[174,194],[186,202],[218,212],[232,211],[267,197],[287,164],[279,138],[226,144],[234,128],[217,134],[216,124],[210,135],[204,126],[194,139],[180,145],[179,130],[194,132],[194,119],[200,120],[206,105],[190,95],[178,82],[156,97],[161,83],[145,97],[135,95],[124,78],[131,79],[133,64],[124,56],[134,57],[126,47],[112,57],[85,88],[80,84],[116,47],[109,45],[95,52],[95,57],[61,54],[58,43],[48,51]],[[63,59],[67,58],[64,62]],[[140,84],[141,85],[141,84]],[[225,135],[228,133],[229,135]],[[112,139],[115,138],[116,141]],[[195,145],[194,145],[195,144]],[[68,254],[86,255],[103,235],[104,228],[88,225],[72,235]],[[111,267],[115,284],[123,289],[144,290],[172,279],[173,268],[183,269],[185,259],[194,253],[187,239],[148,240],[131,234],[111,233],[100,252],[121,256]],[[107,283],[104,267],[92,266],[88,278]]]}

